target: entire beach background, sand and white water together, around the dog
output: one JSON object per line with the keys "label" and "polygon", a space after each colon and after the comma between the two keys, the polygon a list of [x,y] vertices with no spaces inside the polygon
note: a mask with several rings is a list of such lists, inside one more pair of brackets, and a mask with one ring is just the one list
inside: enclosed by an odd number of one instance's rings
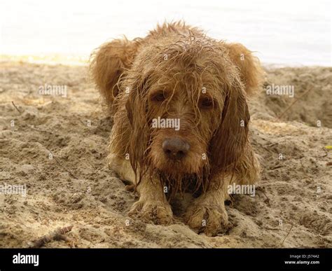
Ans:
{"label": "entire beach background, sand and white water together, around the dog", "polygon": [[[330,1],[11,0],[0,12],[0,186],[27,189],[0,190],[0,247],[66,227],[67,238],[42,246],[332,246]],[[137,197],[106,165],[113,121],[88,76],[104,41],[179,19],[243,43],[266,72],[249,100],[262,179],[255,197],[226,202],[230,228],[216,237],[184,224],[191,195],[175,204],[173,225],[127,216]],[[66,95],[41,95],[45,84]],[[267,95],[272,84],[293,86],[294,97]]]}

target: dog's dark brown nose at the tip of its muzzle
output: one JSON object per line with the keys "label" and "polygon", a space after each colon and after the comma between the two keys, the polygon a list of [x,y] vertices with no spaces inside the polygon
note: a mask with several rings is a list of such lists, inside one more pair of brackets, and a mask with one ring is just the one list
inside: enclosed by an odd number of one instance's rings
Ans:
{"label": "dog's dark brown nose at the tip of its muzzle", "polygon": [[169,137],[162,142],[162,150],[170,159],[180,160],[184,158],[191,146],[187,141],[179,137]]}

